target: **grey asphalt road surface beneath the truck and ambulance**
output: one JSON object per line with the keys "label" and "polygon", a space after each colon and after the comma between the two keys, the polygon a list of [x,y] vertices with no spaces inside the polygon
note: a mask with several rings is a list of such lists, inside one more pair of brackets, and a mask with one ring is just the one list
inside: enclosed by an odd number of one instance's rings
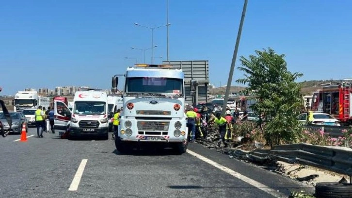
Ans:
{"label": "grey asphalt road surface beneath the truck and ambulance", "polygon": [[[33,134],[30,128],[27,136]],[[140,150],[121,155],[112,139],[67,140],[52,133],[27,142],[18,138],[0,138],[0,198],[273,198],[267,189],[283,197],[291,190],[313,191],[198,144],[189,146],[191,154]],[[82,160],[86,165],[80,169]],[[69,191],[78,169],[78,189]]]}

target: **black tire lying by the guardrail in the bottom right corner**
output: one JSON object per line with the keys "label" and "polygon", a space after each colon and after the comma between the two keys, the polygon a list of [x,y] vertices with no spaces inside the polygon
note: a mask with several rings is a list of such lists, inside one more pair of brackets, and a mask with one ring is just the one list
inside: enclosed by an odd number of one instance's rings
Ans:
{"label": "black tire lying by the guardrail in the bottom right corner", "polygon": [[338,182],[320,182],[315,186],[317,198],[351,198],[352,184]]}

